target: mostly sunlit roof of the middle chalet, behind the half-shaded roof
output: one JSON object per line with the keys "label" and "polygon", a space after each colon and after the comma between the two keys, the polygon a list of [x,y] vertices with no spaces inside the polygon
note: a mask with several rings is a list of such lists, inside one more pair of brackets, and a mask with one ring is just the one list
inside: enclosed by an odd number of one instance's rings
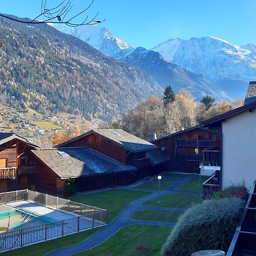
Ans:
{"label": "mostly sunlit roof of the middle chalet, behind the half-shaded roof", "polygon": [[155,146],[154,144],[144,141],[144,139],[138,138],[134,136],[133,134],[127,133],[126,131],[123,131],[122,129],[97,129],[97,130],[90,130],[88,133],[82,134],[76,138],[70,139],[69,141],[63,142],[56,147],[62,147],[66,144],[76,141],[77,139],[80,139],[82,137],[85,137],[89,134],[96,134],[98,136],[101,136],[108,141],[111,141],[115,144],[118,144],[119,146],[126,148],[129,151],[132,152],[139,152],[139,151],[148,151],[148,150],[154,150],[158,148],[158,146]]}

